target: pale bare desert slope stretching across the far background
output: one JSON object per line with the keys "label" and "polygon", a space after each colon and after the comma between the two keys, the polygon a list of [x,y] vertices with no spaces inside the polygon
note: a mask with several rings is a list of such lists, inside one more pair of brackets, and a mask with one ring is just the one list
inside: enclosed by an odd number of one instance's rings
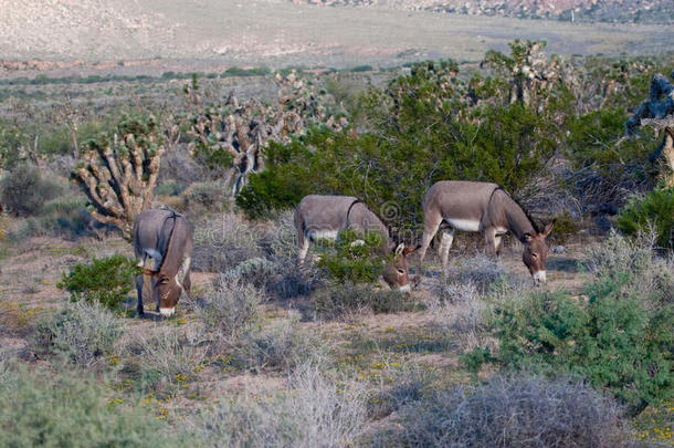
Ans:
{"label": "pale bare desert slope stretching across the far background", "polygon": [[[583,14],[591,10],[593,17],[608,18],[613,11],[623,20],[635,15],[629,11],[639,9],[644,11],[644,18],[646,12],[656,18],[666,15],[657,11],[672,11],[672,3],[673,0],[0,0],[0,76],[71,67],[134,74],[148,65],[161,74],[165,66],[187,72],[208,70],[200,65],[203,61],[218,67],[390,66],[438,58],[478,61],[486,50],[505,50],[507,42],[517,38],[545,39],[547,50],[558,54],[652,54],[672,50],[672,27],[590,24],[582,22]],[[503,17],[545,17],[552,11],[548,15],[562,18],[564,11],[571,8],[578,10],[576,23],[570,22],[570,15],[568,20],[525,22]],[[671,12],[668,18],[672,19]],[[178,61],[178,65],[170,65],[168,60]]]}

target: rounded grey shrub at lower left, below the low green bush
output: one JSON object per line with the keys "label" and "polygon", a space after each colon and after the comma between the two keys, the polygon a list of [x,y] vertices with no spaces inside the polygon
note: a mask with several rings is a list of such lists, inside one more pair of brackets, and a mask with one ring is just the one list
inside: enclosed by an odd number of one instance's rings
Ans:
{"label": "rounded grey shrub at lower left, below the low green bush", "polygon": [[98,303],[67,303],[35,326],[35,348],[87,367],[108,355],[122,334],[113,313]]}

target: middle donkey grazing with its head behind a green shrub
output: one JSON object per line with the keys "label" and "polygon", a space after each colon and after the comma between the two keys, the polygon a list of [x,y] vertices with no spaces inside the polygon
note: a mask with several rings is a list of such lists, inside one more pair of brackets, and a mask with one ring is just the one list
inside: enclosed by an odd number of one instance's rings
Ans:
{"label": "middle donkey grazing with its head behind a green shrub", "polygon": [[[375,231],[386,241],[386,251],[393,251],[393,260],[383,269],[383,280],[391,288],[409,292],[409,263],[407,257],[418,248],[394,247],[388,228],[365,204],[351,196],[305,196],[295,209],[295,228],[299,250],[297,259],[302,264],[309,250],[309,242],[318,239],[337,240],[339,232],[354,229],[365,237]],[[356,242],[356,241],[355,241]]]}

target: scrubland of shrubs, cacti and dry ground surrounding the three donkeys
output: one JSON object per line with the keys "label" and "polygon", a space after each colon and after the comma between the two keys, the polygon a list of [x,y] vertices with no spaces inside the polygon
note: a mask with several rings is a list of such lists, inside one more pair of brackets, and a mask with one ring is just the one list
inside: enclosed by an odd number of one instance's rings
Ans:
{"label": "scrubland of shrubs, cacti and dry ground surrounding the three donkeys", "polygon": [[[376,74],[168,74],[170,101],[97,112],[13,97],[0,440],[671,444],[673,62],[514,41],[480,63]],[[240,96],[236,76],[264,87]],[[548,283],[534,285],[513,238],[498,259],[457,239],[445,275],[430,251],[410,294],[380,279],[392,254],[373,233],[316,241],[297,263],[303,196],[356,196],[413,247],[441,179],[498,183],[536,221],[557,218]],[[194,241],[171,319],[136,314],[127,239],[154,207],[182,213]]]}

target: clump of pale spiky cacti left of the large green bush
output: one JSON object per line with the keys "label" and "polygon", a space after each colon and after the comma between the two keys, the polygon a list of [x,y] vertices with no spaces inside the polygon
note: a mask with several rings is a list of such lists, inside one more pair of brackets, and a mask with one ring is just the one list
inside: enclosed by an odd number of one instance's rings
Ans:
{"label": "clump of pale spiky cacti left of the large green bush", "polygon": [[335,118],[324,106],[313,85],[295,72],[275,75],[278,96],[274,104],[257,100],[240,104],[232,91],[224,104],[210,108],[192,119],[192,155],[211,169],[227,167],[224,184],[236,195],[250,173],[264,169],[264,148],[270,142],[287,143],[292,135],[304,134],[308,125],[325,124],[340,131],[345,118]]}

